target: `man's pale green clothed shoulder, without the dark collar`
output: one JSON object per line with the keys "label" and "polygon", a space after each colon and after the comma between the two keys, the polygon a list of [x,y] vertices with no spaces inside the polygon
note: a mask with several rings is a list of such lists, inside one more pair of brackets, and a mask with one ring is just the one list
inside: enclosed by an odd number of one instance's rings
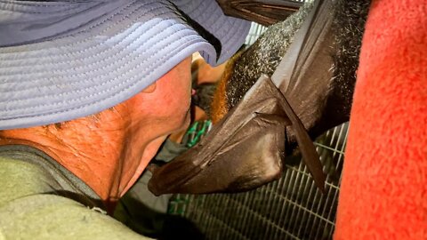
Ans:
{"label": "man's pale green clothed shoulder, without the dark collar", "polygon": [[98,208],[58,195],[42,166],[0,156],[0,239],[144,239]]}

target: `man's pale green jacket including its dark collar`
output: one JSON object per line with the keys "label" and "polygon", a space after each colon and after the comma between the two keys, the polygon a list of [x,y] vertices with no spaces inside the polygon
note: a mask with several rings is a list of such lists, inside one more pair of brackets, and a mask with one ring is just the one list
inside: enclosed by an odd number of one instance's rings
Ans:
{"label": "man's pale green jacket including its dark collar", "polygon": [[147,239],[101,209],[91,188],[43,152],[0,147],[0,240]]}

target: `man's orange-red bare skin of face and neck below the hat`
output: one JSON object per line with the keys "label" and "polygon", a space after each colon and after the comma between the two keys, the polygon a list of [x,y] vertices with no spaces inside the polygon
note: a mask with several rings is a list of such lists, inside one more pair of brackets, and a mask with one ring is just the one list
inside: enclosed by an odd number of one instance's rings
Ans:
{"label": "man's orange-red bare skin of face and neck below the hat", "polygon": [[85,181],[112,209],[165,138],[189,124],[191,57],[129,100],[62,124],[0,131],[0,145],[27,144]]}

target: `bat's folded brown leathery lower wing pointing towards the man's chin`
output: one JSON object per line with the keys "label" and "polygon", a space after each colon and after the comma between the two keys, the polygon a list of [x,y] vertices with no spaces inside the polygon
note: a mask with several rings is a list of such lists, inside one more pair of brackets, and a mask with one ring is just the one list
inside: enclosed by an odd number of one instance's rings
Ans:
{"label": "bat's folded brown leathery lower wing pointing towards the man's chin", "polygon": [[[270,78],[260,77],[197,146],[152,171],[149,190],[155,195],[239,192],[278,179],[285,156],[285,127],[294,121],[287,116],[285,104]],[[295,129],[302,132],[298,140],[314,149],[301,126]],[[306,157],[318,161],[317,153],[312,153]]]}

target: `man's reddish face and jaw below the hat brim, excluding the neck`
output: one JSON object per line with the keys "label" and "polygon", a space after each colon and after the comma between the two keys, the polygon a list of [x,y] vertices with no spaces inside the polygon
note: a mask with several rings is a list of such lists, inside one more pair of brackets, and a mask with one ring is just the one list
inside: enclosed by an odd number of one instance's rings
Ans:
{"label": "man's reddish face and jaw below the hat brim, excluding the neck", "polygon": [[129,174],[128,178],[132,180],[123,191],[137,180],[167,135],[188,126],[191,99],[190,65],[191,57],[181,61],[155,84],[121,103],[122,106],[117,106],[124,109],[130,119],[127,123],[128,142],[125,146],[129,159],[126,159],[125,164],[128,164],[129,169],[137,169],[136,172],[124,172]]}

